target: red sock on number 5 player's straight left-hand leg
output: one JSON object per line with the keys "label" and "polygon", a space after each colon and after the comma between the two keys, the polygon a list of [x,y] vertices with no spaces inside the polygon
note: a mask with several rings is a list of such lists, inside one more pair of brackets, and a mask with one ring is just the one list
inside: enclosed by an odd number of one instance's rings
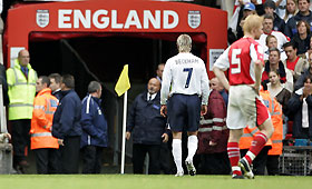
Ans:
{"label": "red sock on number 5 player's straight left-hand leg", "polygon": [[241,158],[238,142],[228,142],[227,143],[227,155],[232,166],[233,175],[242,176],[242,171],[234,169],[233,167],[238,167],[238,161]]}

